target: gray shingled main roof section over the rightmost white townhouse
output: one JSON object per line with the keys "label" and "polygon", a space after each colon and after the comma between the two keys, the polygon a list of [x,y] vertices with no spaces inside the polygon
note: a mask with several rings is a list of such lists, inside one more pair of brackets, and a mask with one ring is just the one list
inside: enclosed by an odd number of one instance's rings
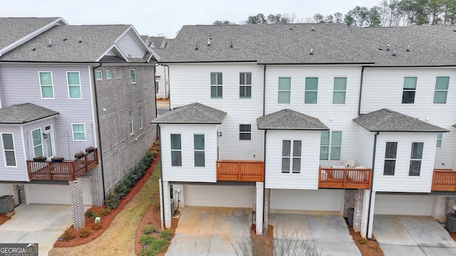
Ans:
{"label": "gray shingled main roof section over the rightmost white townhouse", "polygon": [[[456,26],[373,27],[348,30],[353,38],[368,50],[371,60],[377,66],[456,65]],[[388,42],[390,51],[387,51]],[[408,46],[410,51],[406,51]],[[394,50],[396,56],[393,56]]]}

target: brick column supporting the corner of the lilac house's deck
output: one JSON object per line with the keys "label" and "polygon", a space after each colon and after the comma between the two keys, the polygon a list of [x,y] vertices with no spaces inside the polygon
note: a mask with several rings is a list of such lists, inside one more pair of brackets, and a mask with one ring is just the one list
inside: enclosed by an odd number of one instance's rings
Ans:
{"label": "brick column supporting the corner of the lilac house's deck", "polygon": [[83,183],[81,178],[76,178],[74,181],[68,181],[68,183],[70,183],[73,225],[75,230],[79,230],[86,225],[86,219],[84,218]]}

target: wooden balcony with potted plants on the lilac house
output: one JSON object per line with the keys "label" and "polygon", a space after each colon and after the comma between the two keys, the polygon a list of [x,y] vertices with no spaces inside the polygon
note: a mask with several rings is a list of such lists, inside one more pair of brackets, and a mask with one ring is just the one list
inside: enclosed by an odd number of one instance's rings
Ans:
{"label": "wooden balcony with potted plants on the lilac house", "polygon": [[53,161],[27,160],[28,178],[41,181],[73,181],[98,165],[98,149],[81,159]]}

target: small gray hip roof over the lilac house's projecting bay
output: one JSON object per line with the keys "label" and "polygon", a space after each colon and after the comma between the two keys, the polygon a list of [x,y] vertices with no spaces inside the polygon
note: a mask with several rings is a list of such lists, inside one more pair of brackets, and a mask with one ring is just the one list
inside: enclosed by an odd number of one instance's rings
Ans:
{"label": "small gray hip roof over the lilac house's projecting bay", "polygon": [[56,114],[58,112],[32,103],[11,105],[0,108],[0,124],[24,124]]}

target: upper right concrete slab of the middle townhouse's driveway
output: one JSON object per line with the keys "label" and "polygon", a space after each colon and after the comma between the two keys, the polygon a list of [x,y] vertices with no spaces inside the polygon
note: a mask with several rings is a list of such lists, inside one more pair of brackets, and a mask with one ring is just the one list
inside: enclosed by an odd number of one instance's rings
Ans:
{"label": "upper right concrete slab of the middle townhouse's driveway", "polygon": [[314,241],[354,242],[345,219],[339,215],[307,215]]}

